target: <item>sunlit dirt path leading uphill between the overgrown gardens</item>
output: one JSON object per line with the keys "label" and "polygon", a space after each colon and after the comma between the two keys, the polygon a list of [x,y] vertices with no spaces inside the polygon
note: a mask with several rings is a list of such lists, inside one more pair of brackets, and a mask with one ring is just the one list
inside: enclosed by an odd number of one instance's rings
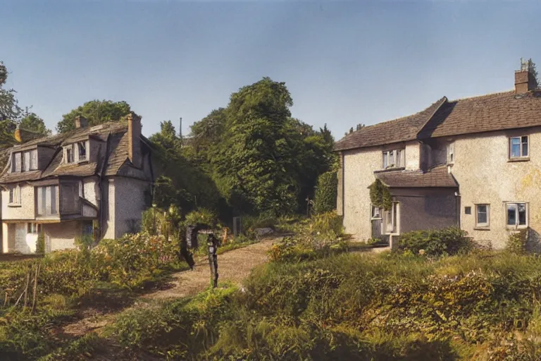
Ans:
{"label": "sunlit dirt path leading uphill between the overgrown gardens", "polygon": [[[259,243],[218,255],[218,282],[242,283],[242,280],[249,276],[251,269],[267,262],[266,251],[278,240],[280,240],[278,237],[265,238]],[[141,295],[140,300],[136,300],[130,307],[144,307],[144,305],[147,305],[147,302],[144,302],[146,299],[182,298],[205,290],[211,284],[209,260],[206,257],[199,259],[193,271],[178,272],[173,274],[172,277],[173,281],[170,283],[170,288]],[[111,322],[114,322],[115,316],[116,313],[85,317],[78,322],[63,326],[62,332],[69,336],[83,336],[111,324]]]}

